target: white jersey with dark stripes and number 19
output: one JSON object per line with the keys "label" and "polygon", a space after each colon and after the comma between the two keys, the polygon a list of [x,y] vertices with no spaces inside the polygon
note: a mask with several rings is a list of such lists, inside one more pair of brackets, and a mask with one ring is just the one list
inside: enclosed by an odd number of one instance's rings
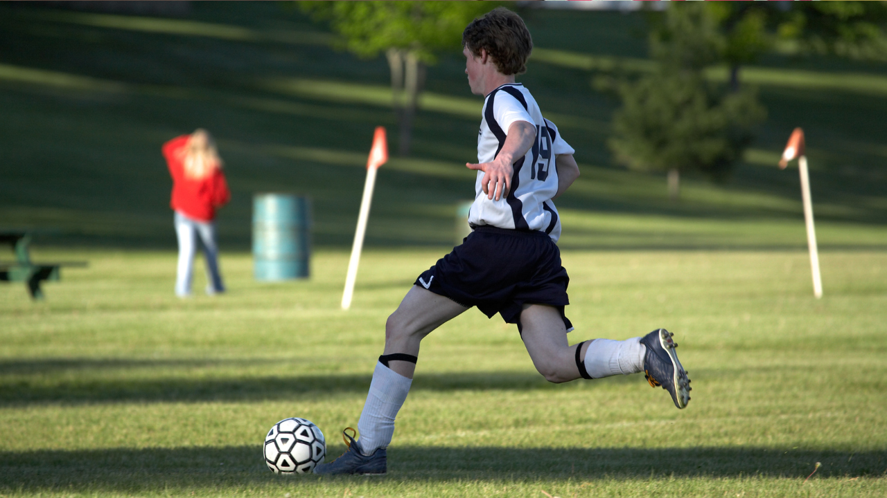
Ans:
{"label": "white jersey with dark stripes and number 19", "polygon": [[491,225],[509,230],[540,230],[561,237],[561,219],[551,198],[557,193],[554,156],[576,151],[567,144],[554,123],[542,117],[536,99],[521,83],[506,83],[494,89],[483,102],[483,119],[477,136],[477,162],[491,162],[505,145],[506,133],[514,121],[536,126],[536,141],[530,150],[514,161],[511,191],[498,201],[483,193],[483,171],[477,172],[475,202],[468,212],[472,227]]}

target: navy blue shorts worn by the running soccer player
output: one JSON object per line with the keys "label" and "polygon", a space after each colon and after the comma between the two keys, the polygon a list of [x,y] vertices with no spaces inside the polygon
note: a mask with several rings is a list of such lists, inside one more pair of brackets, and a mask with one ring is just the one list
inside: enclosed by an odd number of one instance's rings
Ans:
{"label": "navy blue shorts worn by the running soccer player", "polygon": [[490,318],[498,313],[518,328],[524,304],[556,307],[567,331],[573,330],[563,312],[569,276],[561,251],[541,231],[477,227],[415,284]]}

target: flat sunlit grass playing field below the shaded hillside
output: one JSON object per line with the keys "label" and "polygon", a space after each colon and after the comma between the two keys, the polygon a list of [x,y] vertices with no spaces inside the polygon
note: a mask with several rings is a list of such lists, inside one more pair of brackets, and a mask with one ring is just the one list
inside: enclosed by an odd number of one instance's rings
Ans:
{"label": "flat sunlit grass playing field below the shaded hillside", "polygon": [[170,252],[65,253],[90,268],[43,303],[0,287],[0,495],[887,494],[887,256],[867,252],[823,253],[814,300],[802,252],[567,251],[571,341],[675,331],[687,409],[640,375],[548,384],[471,310],[424,343],[388,477],[272,475],[287,416],[341,454],[385,319],[439,253],[367,253],[349,312],[343,252],[288,284],[224,254],[216,298],[174,298]]}

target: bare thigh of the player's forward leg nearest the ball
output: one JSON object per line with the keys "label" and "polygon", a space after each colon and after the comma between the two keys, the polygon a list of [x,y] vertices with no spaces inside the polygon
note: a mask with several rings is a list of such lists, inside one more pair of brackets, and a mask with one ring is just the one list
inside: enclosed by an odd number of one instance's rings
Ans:
{"label": "bare thigh of the player's forward leg nearest the ball", "polygon": [[423,338],[467,309],[449,298],[413,285],[389,316],[385,325],[386,341],[389,337]]}

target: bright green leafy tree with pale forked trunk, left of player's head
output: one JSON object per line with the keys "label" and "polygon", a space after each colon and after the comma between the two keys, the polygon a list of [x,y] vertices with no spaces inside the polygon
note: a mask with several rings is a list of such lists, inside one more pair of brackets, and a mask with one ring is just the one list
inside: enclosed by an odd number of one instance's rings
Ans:
{"label": "bright green leafy tree with pale forked trunk, left of player's head", "polygon": [[412,120],[424,86],[425,68],[441,51],[457,51],[462,31],[491,11],[489,2],[299,2],[341,35],[339,48],[359,57],[384,52],[391,71],[392,103],[400,123],[398,152],[410,150]]}

